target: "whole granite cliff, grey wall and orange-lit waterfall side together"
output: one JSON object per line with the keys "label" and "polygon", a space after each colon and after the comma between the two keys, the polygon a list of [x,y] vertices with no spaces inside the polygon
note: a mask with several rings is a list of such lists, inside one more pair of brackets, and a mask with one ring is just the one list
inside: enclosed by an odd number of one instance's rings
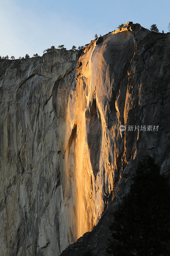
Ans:
{"label": "whole granite cliff, grey wall and orange-lit waterfall side together", "polygon": [[129,24],[79,59],[0,61],[1,255],[105,256],[137,161],[169,177],[169,41]]}

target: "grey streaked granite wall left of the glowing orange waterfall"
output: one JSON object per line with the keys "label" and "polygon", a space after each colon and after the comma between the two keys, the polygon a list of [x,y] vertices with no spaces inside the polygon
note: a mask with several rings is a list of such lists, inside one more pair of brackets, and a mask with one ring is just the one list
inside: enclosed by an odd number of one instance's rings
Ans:
{"label": "grey streaked granite wall left of the glowing orange waterfall", "polygon": [[1,255],[59,255],[75,241],[62,176],[77,61],[77,52],[55,50],[1,62]]}

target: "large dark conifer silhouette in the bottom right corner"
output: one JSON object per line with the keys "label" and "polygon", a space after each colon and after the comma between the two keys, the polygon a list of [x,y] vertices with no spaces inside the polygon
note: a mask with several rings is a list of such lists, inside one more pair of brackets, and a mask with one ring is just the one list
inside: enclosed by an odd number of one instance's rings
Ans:
{"label": "large dark conifer silhouette in the bottom right corner", "polygon": [[114,256],[169,255],[170,189],[150,156],[139,162],[128,196],[114,213],[107,251]]}

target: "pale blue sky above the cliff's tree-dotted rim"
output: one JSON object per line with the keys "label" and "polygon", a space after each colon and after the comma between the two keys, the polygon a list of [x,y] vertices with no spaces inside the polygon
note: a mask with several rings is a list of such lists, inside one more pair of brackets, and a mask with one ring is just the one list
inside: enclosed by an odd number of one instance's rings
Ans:
{"label": "pale blue sky above the cliff's tree-dotted rim", "polygon": [[127,21],[167,32],[169,11],[169,0],[0,0],[0,55],[32,57],[59,44],[69,50]]}

